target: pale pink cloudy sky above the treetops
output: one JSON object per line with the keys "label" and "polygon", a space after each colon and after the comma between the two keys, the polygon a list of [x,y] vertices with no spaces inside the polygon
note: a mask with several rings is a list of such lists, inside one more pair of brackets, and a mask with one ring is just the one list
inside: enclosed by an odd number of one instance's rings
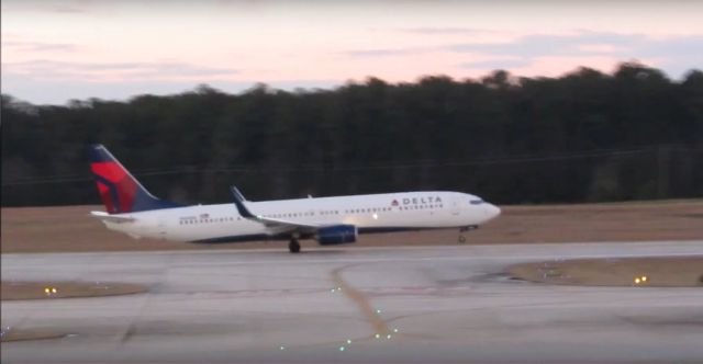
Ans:
{"label": "pale pink cloudy sky above the treetops", "polygon": [[557,77],[636,60],[703,68],[703,1],[3,0],[2,93],[35,104],[209,84]]}

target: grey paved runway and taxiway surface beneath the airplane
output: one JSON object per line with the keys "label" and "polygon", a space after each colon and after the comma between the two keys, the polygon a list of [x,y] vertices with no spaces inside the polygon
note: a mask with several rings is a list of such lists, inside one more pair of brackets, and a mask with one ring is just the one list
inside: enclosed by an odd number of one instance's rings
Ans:
{"label": "grey paved runway and taxiway surface beneath the airplane", "polygon": [[701,241],[2,254],[2,280],[138,283],[2,302],[18,362],[702,362],[703,289],[549,286],[512,263],[703,254]]}

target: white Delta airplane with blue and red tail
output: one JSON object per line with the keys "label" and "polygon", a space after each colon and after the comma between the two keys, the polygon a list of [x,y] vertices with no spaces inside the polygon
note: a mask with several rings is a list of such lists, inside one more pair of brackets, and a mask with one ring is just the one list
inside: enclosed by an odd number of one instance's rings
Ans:
{"label": "white Delta airplane with blue and red tail", "polygon": [[[91,212],[111,229],[133,238],[217,243],[301,239],[321,246],[353,243],[359,234],[478,228],[501,209],[459,192],[426,191],[368,195],[247,201],[232,186],[233,203],[180,205],[150,194],[102,145],[89,147],[90,168],[105,212]],[[459,238],[461,242],[462,236]]]}

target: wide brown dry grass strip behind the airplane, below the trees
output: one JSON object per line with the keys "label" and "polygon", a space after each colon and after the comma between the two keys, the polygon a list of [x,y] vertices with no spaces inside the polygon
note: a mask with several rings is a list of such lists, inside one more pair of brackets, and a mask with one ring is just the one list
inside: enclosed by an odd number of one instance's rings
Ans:
{"label": "wide brown dry grass strip behind the airplane, below the trees", "polygon": [[[471,244],[579,241],[643,241],[703,239],[703,201],[629,204],[503,206],[503,214],[467,232]],[[239,249],[286,242],[193,244],[133,240],[108,230],[88,216],[102,206],[2,208],[1,251],[120,251]],[[457,243],[456,230],[365,235],[358,246],[420,246]],[[304,248],[315,246],[313,241]],[[304,249],[303,248],[303,249]]]}

